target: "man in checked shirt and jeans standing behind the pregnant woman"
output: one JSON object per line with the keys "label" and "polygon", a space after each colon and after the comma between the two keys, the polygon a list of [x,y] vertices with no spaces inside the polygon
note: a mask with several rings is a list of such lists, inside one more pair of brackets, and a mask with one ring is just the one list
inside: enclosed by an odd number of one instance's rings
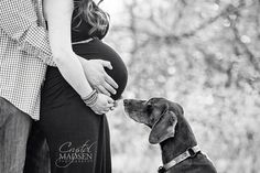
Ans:
{"label": "man in checked shirt and jeans standing behind the pregnant woman", "polygon": [[[40,117],[41,86],[47,65],[55,66],[55,63],[48,45],[42,0],[0,0],[0,173],[23,172],[32,121]],[[86,64],[83,67],[86,68]],[[101,71],[104,68],[99,68]],[[105,76],[94,74],[98,79],[89,83],[104,90],[107,86],[102,83]],[[36,150],[42,145],[39,142],[43,140],[35,138],[30,141],[29,149]],[[26,173],[44,172],[44,167],[47,165]]]}

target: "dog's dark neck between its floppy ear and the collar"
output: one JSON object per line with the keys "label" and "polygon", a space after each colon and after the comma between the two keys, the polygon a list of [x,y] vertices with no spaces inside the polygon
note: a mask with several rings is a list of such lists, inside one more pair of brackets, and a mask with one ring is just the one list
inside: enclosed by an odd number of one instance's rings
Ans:
{"label": "dog's dark neck between its floppy ear and the collar", "polygon": [[160,143],[162,150],[163,164],[172,161],[174,158],[184,153],[188,148],[197,144],[192,128],[187,123],[186,119],[181,116],[175,128],[174,138]]}

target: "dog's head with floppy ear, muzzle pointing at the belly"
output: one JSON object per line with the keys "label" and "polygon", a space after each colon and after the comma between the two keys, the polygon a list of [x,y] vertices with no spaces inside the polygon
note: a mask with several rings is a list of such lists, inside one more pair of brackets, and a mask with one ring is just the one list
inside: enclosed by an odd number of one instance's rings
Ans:
{"label": "dog's head with floppy ear, muzzle pointing at the belly", "polygon": [[124,99],[123,105],[124,111],[130,118],[152,129],[149,136],[149,142],[152,144],[173,138],[177,117],[183,115],[180,105],[164,98]]}

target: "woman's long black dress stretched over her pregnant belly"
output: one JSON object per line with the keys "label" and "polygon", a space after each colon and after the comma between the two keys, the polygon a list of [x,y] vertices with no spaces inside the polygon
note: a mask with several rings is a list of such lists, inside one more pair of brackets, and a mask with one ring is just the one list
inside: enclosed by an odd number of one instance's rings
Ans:
{"label": "woman's long black dress stretched over her pregnant belly", "polygon": [[[75,17],[75,13],[74,13]],[[73,46],[76,54],[111,62],[107,73],[119,85],[113,99],[120,98],[127,84],[127,68],[120,56],[100,39],[106,33],[89,34],[91,28],[80,19],[73,20],[73,42],[96,37]],[[47,67],[42,88],[41,120],[51,153],[52,173],[110,173],[111,155],[106,115],[96,115],[63,78],[56,67]]]}

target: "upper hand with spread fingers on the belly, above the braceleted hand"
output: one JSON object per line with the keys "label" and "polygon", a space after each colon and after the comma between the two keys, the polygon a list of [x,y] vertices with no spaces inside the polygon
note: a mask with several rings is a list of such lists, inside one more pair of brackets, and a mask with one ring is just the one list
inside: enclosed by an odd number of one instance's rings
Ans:
{"label": "upper hand with spread fingers on the belly, above the braceleted hand", "polygon": [[118,84],[105,71],[105,67],[112,69],[110,62],[102,60],[85,60],[80,56],[78,56],[78,58],[83,65],[85,76],[93,88],[98,89],[98,91],[107,96],[117,93]]}

